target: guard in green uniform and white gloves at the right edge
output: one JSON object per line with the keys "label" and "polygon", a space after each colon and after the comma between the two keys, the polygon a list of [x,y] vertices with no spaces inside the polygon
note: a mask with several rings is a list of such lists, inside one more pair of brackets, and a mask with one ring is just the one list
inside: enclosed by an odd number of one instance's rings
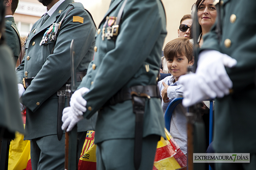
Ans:
{"label": "guard in green uniform and white gloves at the right edge", "polygon": [[183,97],[186,105],[200,97],[217,97],[215,153],[250,153],[250,163],[215,163],[215,169],[256,169],[256,1],[221,0],[216,5],[220,22],[203,37],[194,76],[194,82],[202,78],[206,86],[191,84],[193,75],[185,75],[181,77],[187,86]]}

